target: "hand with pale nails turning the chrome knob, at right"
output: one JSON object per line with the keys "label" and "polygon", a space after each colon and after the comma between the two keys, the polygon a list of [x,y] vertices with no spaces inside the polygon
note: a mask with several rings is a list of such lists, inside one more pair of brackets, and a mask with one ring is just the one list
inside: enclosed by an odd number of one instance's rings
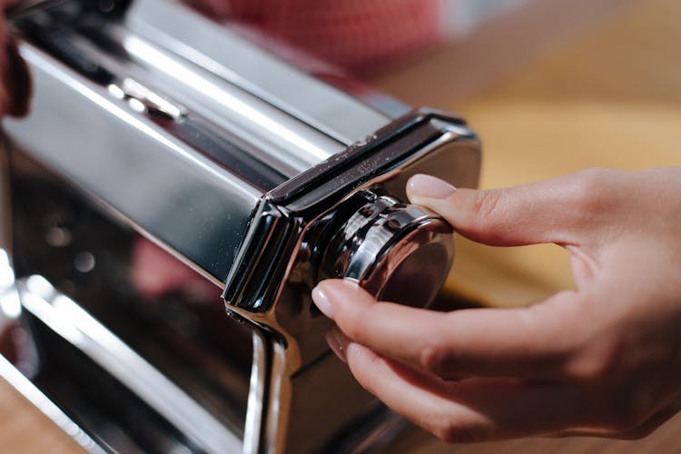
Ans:
{"label": "hand with pale nails turning the chrome knob, at right", "polygon": [[564,246],[577,291],[442,313],[323,281],[327,339],[364,388],[449,442],[636,439],[681,408],[681,167],[488,191],[419,175],[408,194],[477,242]]}

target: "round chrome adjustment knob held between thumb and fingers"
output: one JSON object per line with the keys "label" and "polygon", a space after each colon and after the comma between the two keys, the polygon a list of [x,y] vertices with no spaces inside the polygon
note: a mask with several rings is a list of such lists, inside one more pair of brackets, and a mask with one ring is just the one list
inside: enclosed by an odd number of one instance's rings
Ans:
{"label": "round chrome adjustment knob held between thumb and fingers", "polygon": [[362,195],[370,202],[331,239],[321,259],[324,274],[359,281],[381,300],[428,306],[454,260],[454,231],[425,208]]}

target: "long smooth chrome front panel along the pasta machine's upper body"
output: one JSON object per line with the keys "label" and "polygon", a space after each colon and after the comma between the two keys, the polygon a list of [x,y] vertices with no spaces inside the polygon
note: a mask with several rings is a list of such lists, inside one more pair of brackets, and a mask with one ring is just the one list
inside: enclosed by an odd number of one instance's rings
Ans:
{"label": "long smooth chrome front panel along the pasta machine's upper body", "polygon": [[26,119],[5,121],[12,140],[223,280],[262,192],[106,88],[28,44],[21,54],[32,70],[34,101]]}

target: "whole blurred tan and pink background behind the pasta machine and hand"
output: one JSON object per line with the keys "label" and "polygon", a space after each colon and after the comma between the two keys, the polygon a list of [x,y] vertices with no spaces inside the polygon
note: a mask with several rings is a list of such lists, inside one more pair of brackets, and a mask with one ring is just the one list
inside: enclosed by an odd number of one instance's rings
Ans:
{"label": "whole blurred tan and pink background behind the pasta machine and hand", "polygon": [[[483,141],[482,187],[593,166],[681,164],[677,0],[189,3],[217,20],[265,29],[407,104],[462,114]],[[459,238],[458,248],[446,291],[468,301],[525,305],[574,285],[568,254],[557,246],[492,249]],[[13,452],[76,449],[13,392],[0,386],[0,401],[8,402],[0,406],[6,421],[0,446]],[[400,450],[678,452],[678,433],[676,417],[633,442],[528,439],[447,447],[419,433],[401,439]]]}

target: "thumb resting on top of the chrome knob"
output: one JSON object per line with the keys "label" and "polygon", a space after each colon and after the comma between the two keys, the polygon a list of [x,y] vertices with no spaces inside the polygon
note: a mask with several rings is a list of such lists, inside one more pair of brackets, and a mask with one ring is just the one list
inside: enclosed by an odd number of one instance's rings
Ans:
{"label": "thumb resting on top of the chrome knob", "polygon": [[517,246],[578,244],[607,196],[609,173],[587,171],[538,183],[476,191],[455,189],[429,175],[407,183],[410,201],[439,212],[477,242]]}

